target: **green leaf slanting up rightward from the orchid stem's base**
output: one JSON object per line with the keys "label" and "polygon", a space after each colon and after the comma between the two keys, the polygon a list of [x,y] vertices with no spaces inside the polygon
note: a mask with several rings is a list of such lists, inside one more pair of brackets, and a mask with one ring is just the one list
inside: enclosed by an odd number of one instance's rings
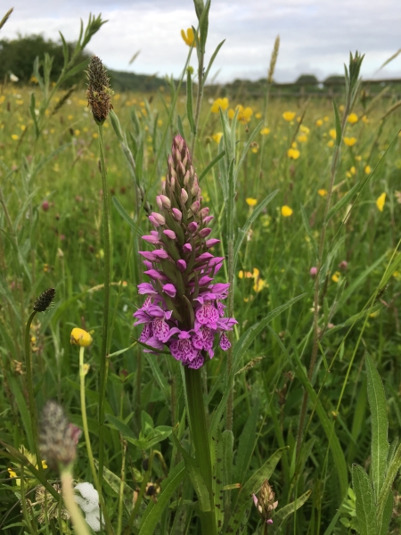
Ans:
{"label": "green leaf slanting up rightward from the orchid stem's base", "polygon": [[238,525],[242,522],[245,510],[250,508],[252,504],[252,494],[256,494],[258,490],[260,490],[263,481],[270,479],[272,473],[274,473],[274,468],[286,449],[288,448],[277,449],[277,451],[266,460],[266,463],[262,465],[241,487],[235,505],[233,506],[232,515],[225,527],[225,533],[235,533],[237,531]]}

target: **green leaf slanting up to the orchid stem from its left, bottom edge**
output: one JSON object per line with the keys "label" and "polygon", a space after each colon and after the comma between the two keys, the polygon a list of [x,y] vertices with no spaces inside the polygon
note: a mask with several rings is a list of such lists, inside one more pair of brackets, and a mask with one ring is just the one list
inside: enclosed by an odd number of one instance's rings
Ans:
{"label": "green leaf slanting up to the orchid stem from its left, bottom edge", "polygon": [[173,494],[176,492],[181,481],[186,475],[184,461],[176,465],[173,470],[168,473],[168,477],[161,483],[161,491],[156,503],[150,502],[149,506],[142,517],[139,535],[153,535],[156,526],[160,523],[161,514],[168,506],[168,502]]}

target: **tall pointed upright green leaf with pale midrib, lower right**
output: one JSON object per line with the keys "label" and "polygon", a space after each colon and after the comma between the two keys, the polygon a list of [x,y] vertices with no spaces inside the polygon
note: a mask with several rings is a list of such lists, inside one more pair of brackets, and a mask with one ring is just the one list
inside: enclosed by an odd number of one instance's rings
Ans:
{"label": "tall pointed upright green leaf with pale midrib, lower right", "polygon": [[[387,403],[383,383],[372,357],[366,353],[365,358],[367,394],[371,407],[372,420],[372,481],[376,499],[381,494],[381,485],[387,470],[389,454]],[[387,496],[386,496],[387,498]]]}

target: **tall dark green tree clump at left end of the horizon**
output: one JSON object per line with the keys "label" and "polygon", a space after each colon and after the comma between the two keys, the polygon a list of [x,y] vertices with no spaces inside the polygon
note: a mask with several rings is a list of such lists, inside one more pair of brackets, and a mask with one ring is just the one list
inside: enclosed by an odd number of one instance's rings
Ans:
{"label": "tall dark green tree clump at left end of the horizon", "polygon": [[[72,43],[67,44],[70,54],[74,49]],[[45,39],[41,35],[20,36],[16,39],[0,39],[0,80],[11,73],[20,78],[20,82],[28,83],[33,73],[33,63],[39,57],[39,62],[43,61],[44,54],[53,56],[52,80],[59,77],[64,64],[61,43],[55,43],[51,39]],[[78,62],[83,62],[86,58],[89,62],[89,53],[81,53]],[[40,69],[41,70],[41,69]],[[69,78],[68,85],[72,86],[85,79],[85,73],[78,72]]]}

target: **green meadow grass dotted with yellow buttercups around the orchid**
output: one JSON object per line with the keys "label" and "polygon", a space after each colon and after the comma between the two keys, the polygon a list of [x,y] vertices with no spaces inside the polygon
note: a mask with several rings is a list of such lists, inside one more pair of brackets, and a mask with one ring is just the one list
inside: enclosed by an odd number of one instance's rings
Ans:
{"label": "green meadow grass dotted with yellow buttercups around the orchid", "polygon": [[[230,99],[220,103],[219,112],[218,105],[213,105],[217,95],[203,95],[199,118],[190,120],[188,114],[196,114],[197,108],[189,108],[188,97],[174,85],[170,95],[160,88],[153,95],[113,96],[111,119],[117,132],[110,119],[102,128],[111,199],[111,276],[100,451],[105,247],[99,132],[83,90],[64,102],[64,92],[53,95],[49,106],[37,114],[43,119],[37,132],[29,106],[33,102],[39,110],[41,95],[35,85],[2,86],[0,93],[2,532],[71,530],[57,515],[37,522],[40,504],[33,491],[37,477],[45,473],[43,477],[52,483],[56,477],[48,469],[43,472],[41,465],[35,472],[32,457],[22,474],[16,451],[22,446],[35,451],[24,329],[37,296],[55,288],[53,307],[37,314],[30,327],[34,398],[38,412],[46,400],[56,399],[72,424],[87,428],[94,463],[92,454],[88,458],[86,453],[89,439],[81,439],[74,477],[95,483],[94,470],[102,473],[106,519],[102,530],[141,535],[204,533],[189,479],[180,480],[166,507],[156,509],[162,500],[148,491],[152,483],[152,492],[159,495],[161,485],[162,497],[168,489],[163,481],[171,481],[167,479],[171,474],[181,477],[174,471],[179,459],[186,459],[185,450],[191,451],[190,434],[182,366],[168,355],[143,353],[135,343],[140,330],[133,327],[132,317],[143,304],[136,285],[147,280],[138,255],[143,249],[140,237],[150,229],[144,208],[149,203],[155,210],[172,138],[181,132],[190,143],[191,120],[198,122],[196,139],[192,136],[198,177],[225,150],[225,156],[201,178],[201,193],[215,215],[213,236],[221,239],[213,252],[229,260],[232,255],[231,268],[230,261],[225,262],[218,280],[226,282],[232,270],[233,311],[238,321],[231,367],[226,368],[226,355],[217,350],[201,370],[209,424],[227,386],[230,390],[227,377],[231,369],[235,371],[232,422],[217,421],[217,453],[212,451],[212,457],[223,455],[226,463],[220,481],[226,490],[219,490],[225,505],[220,521],[230,515],[230,502],[233,505],[239,493],[234,484],[246,486],[275,450],[282,449],[281,461],[277,464],[277,457],[269,477],[279,509],[308,490],[310,497],[282,527],[273,523],[266,528],[249,496],[240,532],[352,532],[351,466],[358,463],[368,471],[371,466],[366,383],[367,376],[373,375],[372,368],[364,368],[366,352],[385,384],[390,442],[397,438],[401,424],[397,365],[401,137],[396,100],[378,100],[371,109],[367,103],[366,109],[356,95],[355,117],[344,110],[346,97],[338,100],[340,115],[345,111],[345,141],[355,138],[356,142],[340,143],[331,192],[336,121],[329,100],[270,98],[266,105],[263,99]],[[235,115],[238,104],[243,109]],[[231,127],[236,142],[230,146],[232,133],[225,128]],[[224,183],[230,151],[237,166],[232,200],[225,190],[230,186],[228,175]],[[318,260],[323,219],[325,235]],[[231,253],[230,235],[235,240]],[[239,237],[243,241],[237,250],[233,244]],[[311,268],[318,268],[317,274]],[[74,327],[85,329],[94,339],[86,350],[90,367],[85,373],[83,352],[80,362],[78,349],[70,344]],[[314,345],[315,365],[308,373]],[[177,424],[173,440],[171,431]],[[399,530],[398,489],[396,479],[396,514],[390,526],[394,533]],[[160,510],[159,516],[153,514],[157,522],[147,524],[146,516],[151,518],[155,509]]]}

